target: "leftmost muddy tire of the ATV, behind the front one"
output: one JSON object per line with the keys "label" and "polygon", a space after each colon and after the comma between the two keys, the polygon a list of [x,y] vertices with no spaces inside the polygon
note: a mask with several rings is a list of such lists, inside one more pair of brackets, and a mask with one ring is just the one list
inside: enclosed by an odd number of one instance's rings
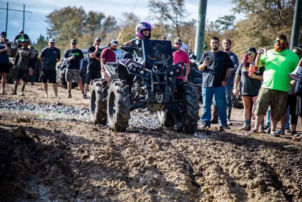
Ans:
{"label": "leftmost muddy tire of the ATV, behind the front one", "polygon": [[104,79],[95,79],[91,85],[90,118],[93,124],[107,124],[107,90],[109,86]]}

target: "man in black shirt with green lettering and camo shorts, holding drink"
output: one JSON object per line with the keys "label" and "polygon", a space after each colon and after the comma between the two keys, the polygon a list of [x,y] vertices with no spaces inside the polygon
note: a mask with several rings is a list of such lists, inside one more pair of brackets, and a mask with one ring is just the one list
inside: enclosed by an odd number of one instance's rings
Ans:
{"label": "man in black shirt with green lettering and camo shorts, holding drink", "polygon": [[67,50],[64,54],[63,62],[66,62],[66,74],[65,78],[67,81],[68,96],[71,98],[71,84],[72,80],[78,83],[80,91],[84,96],[83,84],[81,79],[81,69],[83,65],[83,52],[76,48],[76,39],[71,40],[71,49]]}

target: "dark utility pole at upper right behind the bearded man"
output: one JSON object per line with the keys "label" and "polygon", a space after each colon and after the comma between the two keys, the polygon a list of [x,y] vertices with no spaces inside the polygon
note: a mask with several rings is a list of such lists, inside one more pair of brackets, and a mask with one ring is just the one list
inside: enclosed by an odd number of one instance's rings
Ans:
{"label": "dark utility pole at upper right behind the bearded man", "polygon": [[302,0],[296,0],[293,28],[291,30],[291,49],[298,45],[300,22],[301,22]]}

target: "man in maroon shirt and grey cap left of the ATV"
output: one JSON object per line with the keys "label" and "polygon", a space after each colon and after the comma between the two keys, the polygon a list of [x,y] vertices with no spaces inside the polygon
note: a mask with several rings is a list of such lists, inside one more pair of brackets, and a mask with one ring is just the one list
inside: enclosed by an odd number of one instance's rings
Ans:
{"label": "man in maroon shirt and grey cap left of the ATV", "polygon": [[116,55],[114,51],[117,49],[117,46],[117,40],[112,40],[108,44],[108,48],[105,48],[101,53],[101,74],[104,75],[104,79],[108,82],[110,81],[110,77],[105,73],[104,65],[106,64],[106,62],[116,61]]}

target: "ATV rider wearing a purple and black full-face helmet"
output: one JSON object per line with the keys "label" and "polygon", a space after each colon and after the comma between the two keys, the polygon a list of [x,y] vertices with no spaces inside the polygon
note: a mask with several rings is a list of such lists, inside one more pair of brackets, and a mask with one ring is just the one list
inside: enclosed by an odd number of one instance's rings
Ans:
{"label": "ATV rider wearing a purple and black full-face helmet", "polygon": [[[135,28],[135,34],[137,35],[136,38],[134,39],[131,39],[130,41],[127,41],[124,43],[124,45],[131,45],[135,48],[137,48],[137,45],[136,45],[136,40],[137,39],[140,39],[140,40],[143,40],[143,39],[150,39],[151,38],[151,31],[152,31],[152,27],[150,25],[149,22],[140,22],[137,24],[136,28]],[[139,47],[141,48],[141,47]],[[132,58],[133,59],[133,53],[132,52],[128,52],[124,55],[124,58]],[[143,53],[139,52],[139,51],[135,51],[135,54],[142,58],[143,57]]]}

